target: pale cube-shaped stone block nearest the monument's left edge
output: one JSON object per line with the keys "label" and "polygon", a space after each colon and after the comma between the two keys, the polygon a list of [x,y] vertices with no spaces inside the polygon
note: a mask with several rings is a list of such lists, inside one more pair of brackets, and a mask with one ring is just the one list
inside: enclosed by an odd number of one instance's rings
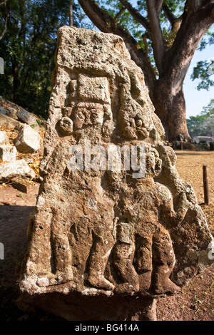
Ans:
{"label": "pale cube-shaped stone block nearest the monument's left edge", "polygon": [[40,148],[40,135],[30,125],[21,125],[15,145],[20,153],[34,153]]}

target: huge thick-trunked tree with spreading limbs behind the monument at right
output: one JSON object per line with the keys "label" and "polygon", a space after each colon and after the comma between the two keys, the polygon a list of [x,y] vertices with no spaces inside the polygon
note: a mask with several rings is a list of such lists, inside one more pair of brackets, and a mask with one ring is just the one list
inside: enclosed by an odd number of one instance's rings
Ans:
{"label": "huge thick-trunked tree with spreading limbs behind the monument at right", "polygon": [[190,140],[183,81],[214,22],[213,0],[78,0],[98,29],[121,36],[143,70],[166,138]]}

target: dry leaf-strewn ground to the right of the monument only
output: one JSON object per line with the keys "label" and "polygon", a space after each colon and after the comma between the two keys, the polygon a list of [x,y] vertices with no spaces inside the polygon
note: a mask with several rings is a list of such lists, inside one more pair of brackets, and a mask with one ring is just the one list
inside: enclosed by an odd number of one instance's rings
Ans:
{"label": "dry leaf-strewn ground to the right of the monument only", "polygon": [[[198,204],[205,212],[210,232],[214,236],[214,152],[175,151],[175,153],[178,173],[183,181],[193,186]],[[209,205],[204,205],[203,165],[208,165]],[[179,294],[158,299],[157,307],[160,321],[213,321],[214,264],[203,274],[198,274]]]}

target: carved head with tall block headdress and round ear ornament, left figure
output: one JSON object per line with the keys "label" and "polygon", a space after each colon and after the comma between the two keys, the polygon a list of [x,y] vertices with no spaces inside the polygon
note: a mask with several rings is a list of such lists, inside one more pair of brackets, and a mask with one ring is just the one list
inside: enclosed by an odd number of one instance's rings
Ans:
{"label": "carved head with tall block headdress and round ear ornament, left figure", "polygon": [[[83,135],[85,132],[81,130],[94,133],[96,128],[98,133],[103,130],[103,135],[111,135],[113,122],[108,86],[108,78],[83,73],[69,81],[66,86],[66,105],[62,108],[64,117],[58,122],[61,134],[71,135],[72,128],[73,132],[78,131]],[[69,125],[69,118],[72,127]]]}

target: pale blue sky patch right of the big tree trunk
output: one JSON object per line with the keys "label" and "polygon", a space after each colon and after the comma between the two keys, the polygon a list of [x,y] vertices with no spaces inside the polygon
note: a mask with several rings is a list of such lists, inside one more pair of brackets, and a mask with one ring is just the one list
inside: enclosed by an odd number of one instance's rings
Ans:
{"label": "pale blue sky patch right of the big tree trunk", "polygon": [[[183,84],[187,118],[189,118],[190,115],[195,116],[200,114],[203,107],[208,105],[210,100],[214,98],[214,86],[211,87],[209,91],[198,91],[196,87],[198,86],[199,80],[192,81],[190,79],[190,76],[193,73],[193,67],[196,66],[197,62],[208,61],[210,58],[214,59],[214,45],[206,46],[203,51],[195,51],[193,60],[190,63],[190,68],[188,69],[188,73]],[[214,80],[214,75],[210,79]]]}

